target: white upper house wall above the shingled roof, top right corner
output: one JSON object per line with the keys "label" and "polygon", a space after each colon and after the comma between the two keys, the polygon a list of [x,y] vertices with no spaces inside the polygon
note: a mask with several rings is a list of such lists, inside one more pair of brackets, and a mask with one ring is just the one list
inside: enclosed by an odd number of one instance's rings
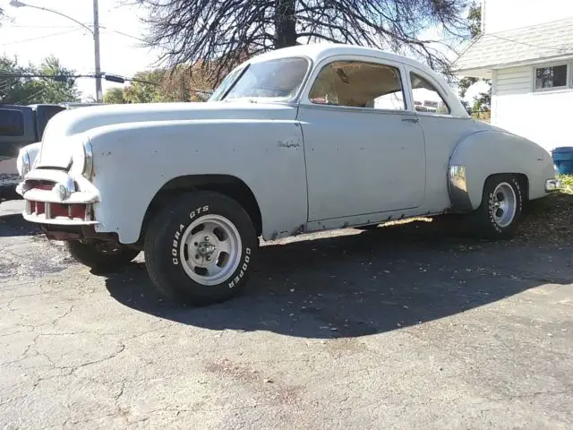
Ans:
{"label": "white upper house wall above the shingled roof, top right corner", "polygon": [[483,32],[497,33],[573,17],[573,1],[483,0],[482,13]]}

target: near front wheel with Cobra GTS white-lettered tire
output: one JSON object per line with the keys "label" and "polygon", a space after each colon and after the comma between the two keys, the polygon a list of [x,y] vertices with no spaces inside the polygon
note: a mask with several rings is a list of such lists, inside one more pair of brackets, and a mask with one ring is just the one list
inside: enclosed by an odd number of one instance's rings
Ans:
{"label": "near front wheel with Cobra GTS white-lettered tire", "polygon": [[220,193],[171,201],[150,223],[145,262],[158,291],[190,305],[238,294],[251,272],[258,238],[244,208]]}

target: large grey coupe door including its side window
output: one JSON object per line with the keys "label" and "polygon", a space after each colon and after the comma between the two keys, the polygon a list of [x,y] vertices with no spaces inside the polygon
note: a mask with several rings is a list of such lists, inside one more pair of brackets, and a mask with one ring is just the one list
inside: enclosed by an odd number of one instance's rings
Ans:
{"label": "large grey coupe door including its side window", "polygon": [[373,57],[333,57],[316,68],[298,114],[309,221],[376,220],[423,203],[423,131],[403,76],[402,64]]}

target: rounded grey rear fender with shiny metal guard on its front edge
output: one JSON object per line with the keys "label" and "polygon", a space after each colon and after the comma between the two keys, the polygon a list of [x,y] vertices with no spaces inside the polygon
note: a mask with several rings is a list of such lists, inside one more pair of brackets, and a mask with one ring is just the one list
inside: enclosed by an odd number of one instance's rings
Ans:
{"label": "rounded grey rear fender with shiny metal guard on its front edge", "polygon": [[534,142],[502,130],[472,133],[458,143],[449,159],[451,210],[479,208],[485,180],[501,173],[525,175],[529,197],[541,197],[552,172],[551,155]]}

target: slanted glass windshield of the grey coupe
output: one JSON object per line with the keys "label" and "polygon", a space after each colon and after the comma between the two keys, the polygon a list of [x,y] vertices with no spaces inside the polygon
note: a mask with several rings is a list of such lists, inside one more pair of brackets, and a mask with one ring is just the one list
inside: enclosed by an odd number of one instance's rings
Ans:
{"label": "slanted glass windshield of the grey coupe", "polygon": [[[309,62],[304,58],[279,58],[248,64],[246,68],[232,73],[236,72],[238,80],[227,94],[222,93],[225,90],[219,92],[218,89],[216,92],[218,97],[224,95],[223,100],[266,98],[286,101],[295,97],[308,67]],[[233,80],[235,76],[232,76]],[[223,85],[228,86],[227,79]]]}

